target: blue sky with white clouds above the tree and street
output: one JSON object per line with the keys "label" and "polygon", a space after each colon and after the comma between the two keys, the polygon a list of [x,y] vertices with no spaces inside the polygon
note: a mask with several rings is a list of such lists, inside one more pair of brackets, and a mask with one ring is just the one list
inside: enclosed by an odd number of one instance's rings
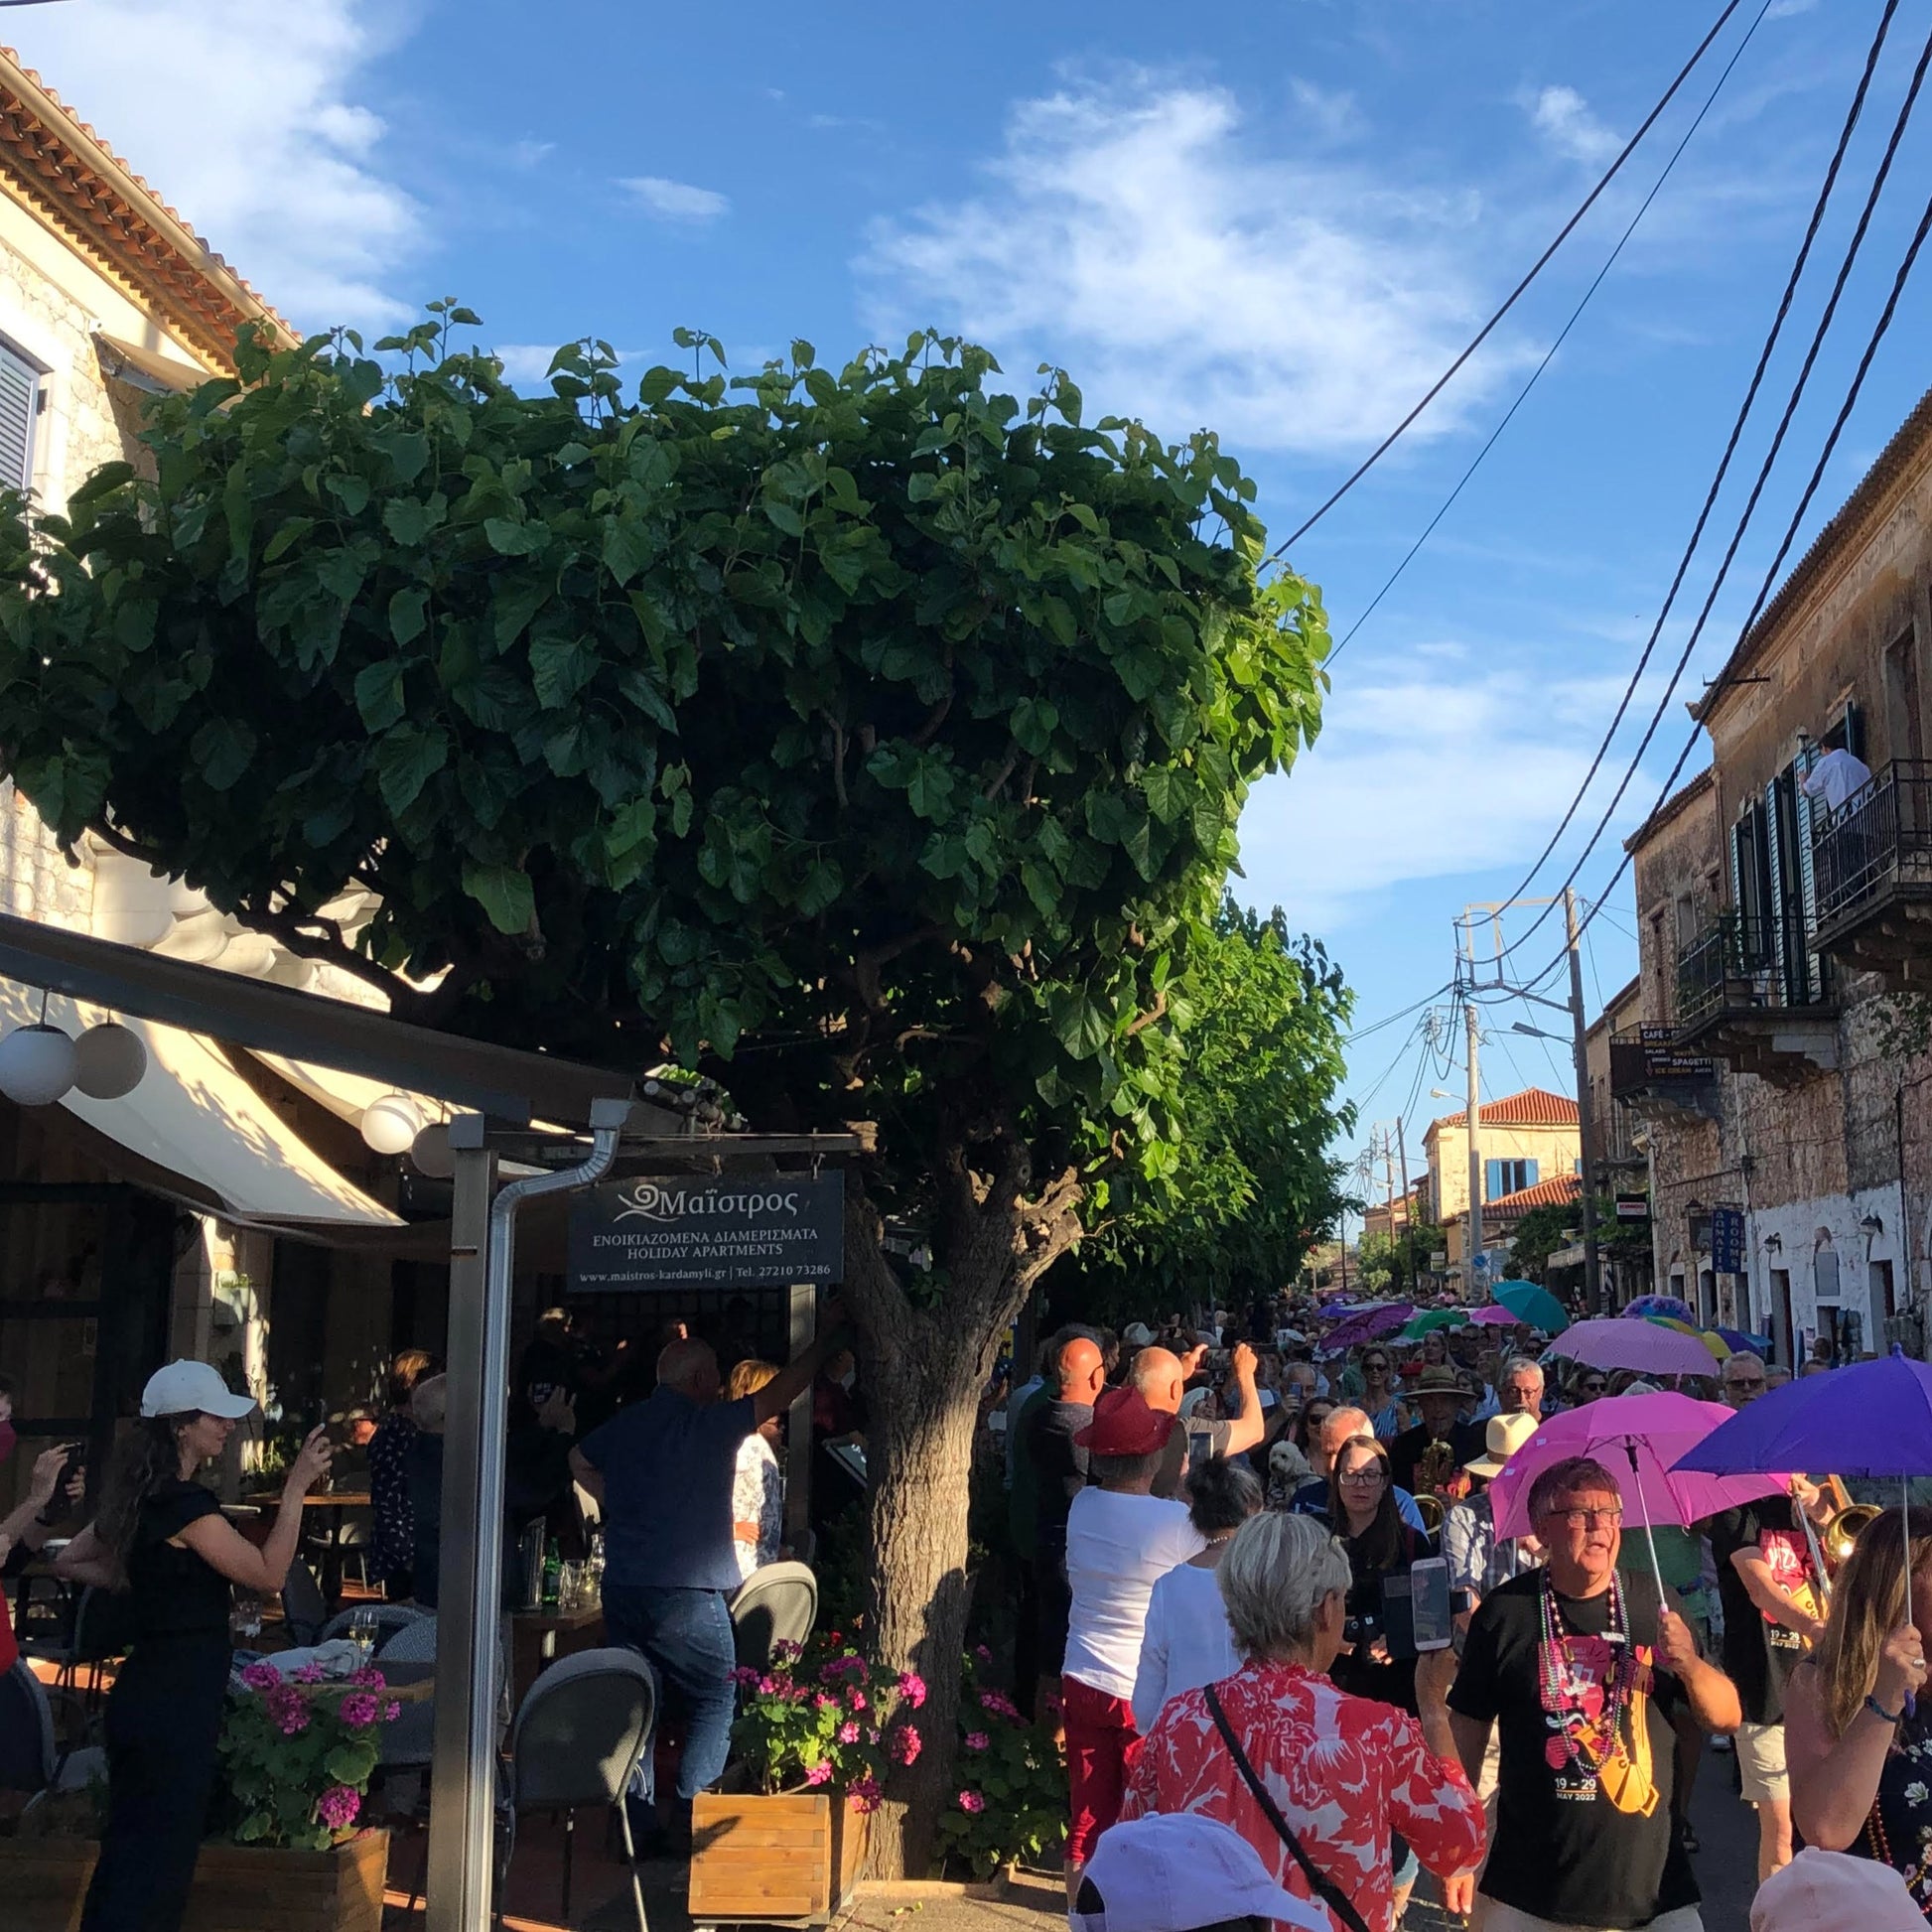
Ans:
{"label": "blue sky with white clouds above the tree and street", "polygon": [[[1747,0],[1719,58],[1760,6]],[[676,325],[697,325],[755,367],[792,336],[829,357],[937,323],[991,344],[1016,377],[1063,363],[1090,406],[1171,435],[1217,427],[1285,535],[1555,234],[1718,10],[71,0],[10,12],[6,29],[299,327],[381,327],[454,292],[533,379],[585,332],[659,359]],[[1772,0],[1577,330],[1335,665],[1320,744],[1256,792],[1244,895],[1327,941],[1364,1024],[1447,978],[1451,918],[1519,883],[1596,750],[1878,12]],[[1774,365],[1777,402],[1928,29],[1932,0],[1907,0],[1799,298],[1799,340]],[[1490,350],[1296,547],[1337,636],[1507,410],[1716,75],[1718,58]],[[1797,500],[1920,213],[1928,141],[1907,137],[1766,516],[1582,871],[1592,895],[1658,796],[1689,728],[1681,699],[1721,663]],[[1932,381],[1926,278],[1932,267],[1907,292],[1812,527]],[[1747,435],[1750,469],[1768,429]],[[1725,533],[1735,502],[1733,487]],[[1708,582],[1710,566],[1692,566],[1658,667]],[[1611,779],[1662,696],[1658,667]],[[1592,794],[1586,827],[1607,796]],[[1563,869],[1580,844],[1577,831],[1563,840]],[[1592,1003],[1634,966],[1631,920],[1625,879],[1590,935]],[[1517,964],[1544,966],[1548,933]],[[1405,1045],[1410,1024],[1358,1043],[1354,1092],[1364,1124],[1408,1105],[1414,1146],[1441,1109]],[[1486,1090],[1532,1080],[1567,1084],[1567,1059],[1492,1037]]]}

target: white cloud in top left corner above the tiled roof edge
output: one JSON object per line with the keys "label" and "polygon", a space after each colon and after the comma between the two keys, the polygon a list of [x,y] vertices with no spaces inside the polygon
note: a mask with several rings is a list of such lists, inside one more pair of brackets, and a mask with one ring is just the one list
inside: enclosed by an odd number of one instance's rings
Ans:
{"label": "white cloud in top left corner above the tiled roof edge", "polygon": [[8,15],[21,60],[298,328],[413,309],[388,274],[421,213],[354,99],[390,44],[373,0],[89,0]]}

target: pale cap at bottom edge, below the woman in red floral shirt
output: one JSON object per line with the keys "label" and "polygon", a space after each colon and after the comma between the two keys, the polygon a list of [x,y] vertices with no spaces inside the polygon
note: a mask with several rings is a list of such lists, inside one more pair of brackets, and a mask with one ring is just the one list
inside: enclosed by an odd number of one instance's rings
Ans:
{"label": "pale cap at bottom edge, below the woman in red floral shirt", "polygon": [[1094,1845],[1070,1911],[1072,1932],[1194,1932],[1227,1918],[1329,1932],[1329,1915],[1283,1889],[1262,1855],[1219,1818],[1155,1812],[1109,1826]]}

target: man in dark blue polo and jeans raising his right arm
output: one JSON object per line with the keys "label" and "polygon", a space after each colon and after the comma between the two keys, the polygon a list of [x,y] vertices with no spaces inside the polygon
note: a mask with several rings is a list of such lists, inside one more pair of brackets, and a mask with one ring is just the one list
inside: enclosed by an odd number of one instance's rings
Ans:
{"label": "man in dark blue polo and jeans raising his right arm", "polygon": [[732,1648],[724,1598],[738,1588],[732,1478],[738,1445],[811,1387],[837,1323],[755,1395],[719,1401],[719,1362],[705,1341],[674,1341],[657,1358],[649,1401],[620,1408],[570,1451],[578,1482],[603,1505],[605,1629],[641,1650],[684,1716],[678,1806],[715,1783],[730,1750]]}

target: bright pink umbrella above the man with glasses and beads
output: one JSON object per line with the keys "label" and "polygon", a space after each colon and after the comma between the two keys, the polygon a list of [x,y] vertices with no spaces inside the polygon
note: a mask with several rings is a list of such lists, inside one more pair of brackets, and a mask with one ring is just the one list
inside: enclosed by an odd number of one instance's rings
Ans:
{"label": "bright pink umbrella above the man with glasses and beads", "polygon": [[[1530,1486],[1546,1468],[1573,1455],[1594,1455],[1617,1478],[1623,1520],[1629,1528],[1648,1528],[1654,1522],[1687,1528],[1718,1515],[1719,1509],[1737,1509],[1739,1503],[1754,1503],[1760,1495],[1781,1493],[1791,1482],[1789,1476],[1698,1476],[1671,1468],[1679,1457],[1689,1455],[1712,1430],[1729,1420],[1731,1410],[1723,1403],[1694,1403],[1689,1395],[1669,1393],[1613,1395],[1590,1403],[1588,1408],[1569,1408],[1561,1416],[1551,1416],[1490,1484],[1495,1534],[1532,1534]],[[1662,1578],[1658,1588],[1662,1590]]]}

